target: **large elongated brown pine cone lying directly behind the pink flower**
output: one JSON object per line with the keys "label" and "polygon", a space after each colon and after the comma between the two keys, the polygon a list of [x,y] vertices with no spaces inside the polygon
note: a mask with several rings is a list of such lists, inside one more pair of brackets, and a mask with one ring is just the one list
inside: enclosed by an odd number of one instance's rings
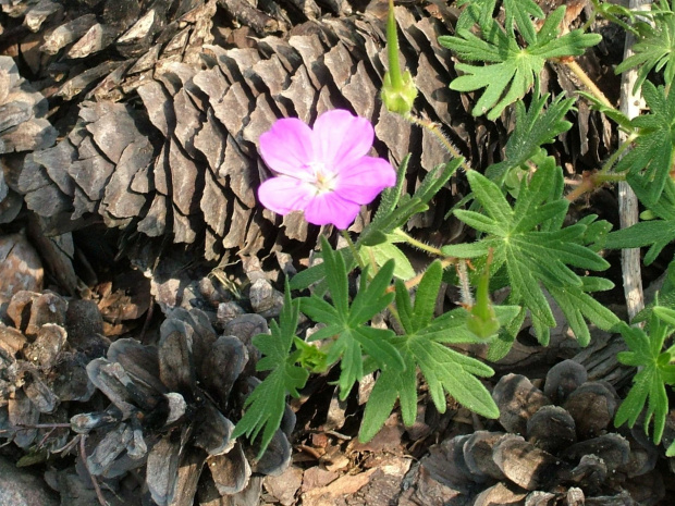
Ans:
{"label": "large elongated brown pine cone lying directly behind the pink flower", "polygon": [[[133,64],[118,67],[86,95],[57,146],[35,151],[12,171],[10,184],[50,221],[52,232],[102,218],[130,234],[199,245],[207,259],[231,250],[273,250],[280,240],[305,242],[307,224],[297,214],[277,219],[256,202],[255,188],[269,175],[257,139],[281,116],[311,122],[340,107],[370,119],[380,155],[400,162],[413,152],[412,187],[447,160],[431,134],[381,106],[381,18],[366,13],[314,21],[290,36],[250,39],[253,47],[207,45],[197,58],[195,49],[210,39],[200,25],[210,27],[208,5],[212,2],[197,8],[199,15],[183,15],[182,23],[193,25],[179,55],[169,42],[157,42]],[[489,129],[447,88],[451,54],[437,42],[443,23],[418,20],[403,8],[396,13],[408,66],[417,74],[418,111],[451,126],[461,151],[478,161],[491,158],[496,145]],[[66,88],[86,89],[71,82],[59,94],[73,98]],[[477,135],[468,138],[467,132]],[[438,203],[412,225],[440,225],[452,202]]]}

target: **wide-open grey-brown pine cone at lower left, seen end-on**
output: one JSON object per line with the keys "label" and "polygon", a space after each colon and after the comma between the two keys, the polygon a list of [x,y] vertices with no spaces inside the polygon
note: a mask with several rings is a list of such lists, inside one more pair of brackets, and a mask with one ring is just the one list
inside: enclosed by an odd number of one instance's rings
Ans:
{"label": "wide-open grey-brown pine cone at lower left, seen end-on", "polygon": [[[247,321],[230,325],[243,332],[258,328]],[[256,382],[247,375],[255,361],[245,344],[250,337],[218,336],[206,313],[175,309],[157,346],[115,341],[107,358],[87,366],[111,406],[71,419],[75,432],[90,436],[89,471],[106,480],[139,469],[158,505],[192,505],[195,496],[200,504],[216,497],[257,504],[256,476],[282,472],[291,446],[279,430],[257,459],[257,448],[231,437],[230,418],[241,412]],[[290,432],[294,417],[289,410],[284,418],[282,428]]]}

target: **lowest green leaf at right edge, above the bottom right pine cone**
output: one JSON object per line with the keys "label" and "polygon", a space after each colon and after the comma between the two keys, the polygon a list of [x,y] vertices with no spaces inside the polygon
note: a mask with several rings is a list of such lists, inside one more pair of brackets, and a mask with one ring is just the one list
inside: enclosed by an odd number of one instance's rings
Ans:
{"label": "lowest green leaf at right edge, above the bottom right pine cone", "polygon": [[649,334],[640,328],[628,326],[623,322],[618,326],[630,351],[619,353],[617,359],[622,363],[639,368],[639,371],[633,379],[630,392],[616,411],[614,424],[619,427],[627,422],[628,427],[633,427],[647,408],[645,431],[649,433],[649,424],[653,418],[652,439],[659,444],[668,411],[665,384],[672,384],[675,380],[675,366],[670,363],[673,359],[671,354],[662,351],[672,328],[661,323],[655,312],[656,309],[650,318]]}

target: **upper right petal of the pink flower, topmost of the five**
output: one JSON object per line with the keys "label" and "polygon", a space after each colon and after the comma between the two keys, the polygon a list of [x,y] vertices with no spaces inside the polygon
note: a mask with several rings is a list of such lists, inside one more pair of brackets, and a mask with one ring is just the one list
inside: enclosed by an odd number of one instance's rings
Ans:
{"label": "upper right petal of the pink flower, topmost of the five", "polygon": [[368,155],[375,139],[375,129],[368,120],[343,109],[317,118],[314,134],[317,161],[326,163],[332,172],[340,172]]}

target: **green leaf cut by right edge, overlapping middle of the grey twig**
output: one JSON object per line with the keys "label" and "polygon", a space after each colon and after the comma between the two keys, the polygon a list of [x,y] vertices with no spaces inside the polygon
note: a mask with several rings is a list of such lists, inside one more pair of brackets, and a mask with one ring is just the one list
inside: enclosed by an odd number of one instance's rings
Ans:
{"label": "green leaf cut by right edge, overlapping middle of the grey twig", "polygon": [[[651,188],[649,183],[634,181],[630,185],[641,202],[649,202]],[[654,220],[641,221],[633,226],[608,234],[604,247],[610,249],[640,248],[650,246],[645,255],[645,264],[651,264],[659,254],[675,239],[675,183],[668,177],[658,201],[646,203],[656,217]]]}

